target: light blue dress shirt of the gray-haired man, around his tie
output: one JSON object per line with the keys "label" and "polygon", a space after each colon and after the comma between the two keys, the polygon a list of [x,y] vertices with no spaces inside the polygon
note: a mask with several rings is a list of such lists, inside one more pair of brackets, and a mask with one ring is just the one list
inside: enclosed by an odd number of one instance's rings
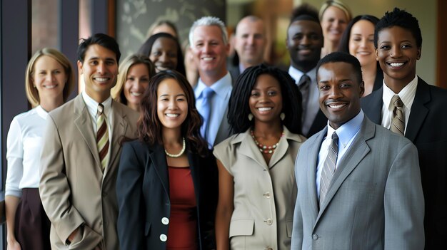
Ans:
{"label": "light blue dress shirt of the gray-haired man, around his tie", "polygon": [[[201,79],[197,83],[194,89],[194,95],[196,96],[196,107],[199,110],[202,102],[204,101],[204,96],[202,95],[203,90],[208,87]],[[228,100],[230,99],[231,90],[233,87],[231,85],[231,75],[229,72],[226,75],[213,83],[209,88],[214,90],[214,95],[211,98],[211,118],[209,118],[209,127],[206,134],[206,139],[209,145],[214,145],[214,140],[216,140],[217,132],[225,115],[225,110],[228,107]],[[199,110],[199,113],[201,110]]]}

